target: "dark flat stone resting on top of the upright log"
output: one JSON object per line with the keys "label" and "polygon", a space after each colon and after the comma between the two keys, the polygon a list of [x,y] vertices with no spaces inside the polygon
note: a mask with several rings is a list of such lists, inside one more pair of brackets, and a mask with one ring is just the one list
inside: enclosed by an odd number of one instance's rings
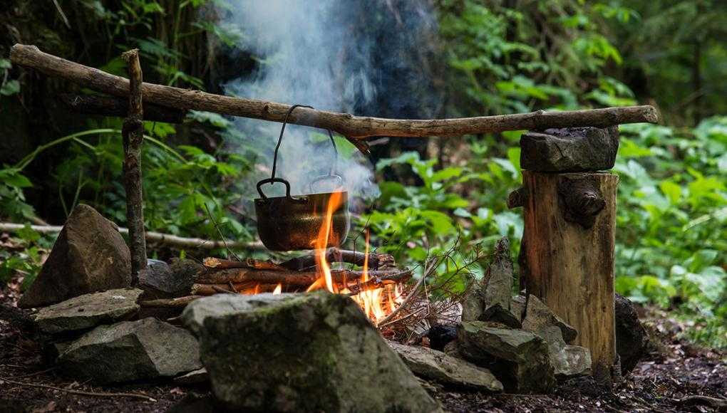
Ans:
{"label": "dark flat stone resting on top of the upright log", "polygon": [[520,165],[537,172],[606,171],[614,167],[619,128],[553,128],[520,138]]}

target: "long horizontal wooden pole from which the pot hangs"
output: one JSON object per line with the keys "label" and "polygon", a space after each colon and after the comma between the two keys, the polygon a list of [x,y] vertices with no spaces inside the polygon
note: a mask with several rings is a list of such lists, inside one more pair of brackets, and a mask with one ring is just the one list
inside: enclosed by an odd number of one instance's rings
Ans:
{"label": "long horizontal wooden pole from which the pot hangs", "polygon": [[[128,79],[41,52],[36,46],[15,44],[10,51],[10,59],[16,65],[33,68],[46,75],[63,78],[95,91],[118,97],[126,97],[129,94]],[[142,95],[145,102],[166,107],[206,110],[222,115],[275,122],[282,122],[290,107],[282,103],[221,96],[154,83],[143,83]],[[575,126],[603,128],[622,123],[656,123],[658,120],[659,113],[648,105],[564,112],[539,110],[515,115],[428,120],[370,118],[300,107],[294,110],[289,118],[290,123],[330,129],[353,140],[369,136],[456,136]]]}

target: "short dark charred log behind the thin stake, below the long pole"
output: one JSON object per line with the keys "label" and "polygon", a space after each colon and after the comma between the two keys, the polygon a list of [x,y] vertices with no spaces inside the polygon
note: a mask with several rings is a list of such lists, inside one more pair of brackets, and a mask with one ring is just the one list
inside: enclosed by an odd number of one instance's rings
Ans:
{"label": "short dark charred log behind the thin stake, below the long pole", "polygon": [[[93,94],[60,94],[58,100],[73,113],[84,115],[126,117],[129,113],[129,102],[113,96]],[[143,107],[144,120],[164,123],[182,123],[187,115],[186,110],[153,105],[145,102]]]}

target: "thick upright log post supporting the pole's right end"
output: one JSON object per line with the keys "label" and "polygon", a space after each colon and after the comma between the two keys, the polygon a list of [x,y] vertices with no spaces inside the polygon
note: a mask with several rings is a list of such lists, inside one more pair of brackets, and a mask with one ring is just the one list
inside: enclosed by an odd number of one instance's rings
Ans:
{"label": "thick upright log post supporting the pole's right end", "polygon": [[618,176],[523,171],[525,232],[521,282],[578,330],[593,375],[619,368],[614,325],[614,237]]}

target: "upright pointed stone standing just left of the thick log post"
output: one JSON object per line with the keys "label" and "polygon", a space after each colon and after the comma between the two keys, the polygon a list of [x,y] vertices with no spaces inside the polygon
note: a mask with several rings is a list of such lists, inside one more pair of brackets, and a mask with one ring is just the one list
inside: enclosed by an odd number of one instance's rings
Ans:
{"label": "upright pointed stone standing just left of the thick log post", "polygon": [[510,260],[510,241],[502,237],[495,245],[492,262],[489,263],[481,282],[473,282],[462,300],[462,321],[486,321],[483,313],[498,305],[510,311],[513,295],[513,261]]}

